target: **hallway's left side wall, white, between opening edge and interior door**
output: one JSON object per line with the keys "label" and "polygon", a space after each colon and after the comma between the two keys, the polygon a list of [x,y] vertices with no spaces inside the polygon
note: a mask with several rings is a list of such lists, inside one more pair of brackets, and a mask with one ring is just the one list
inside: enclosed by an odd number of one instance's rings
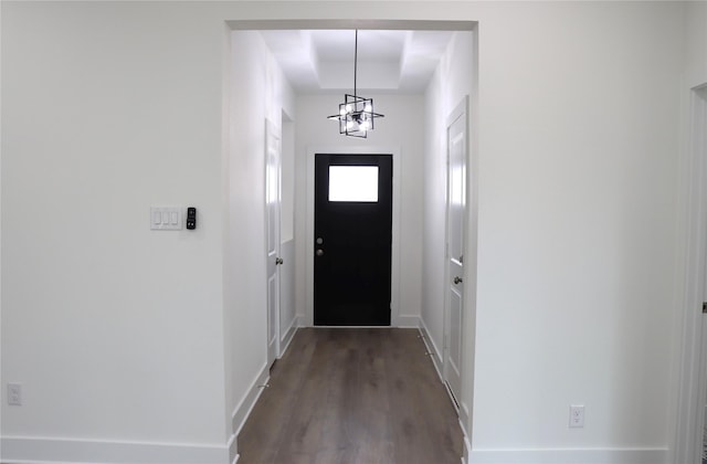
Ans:
{"label": "hallway's left side wall, white, between opening edge and interior door", "polygon": [[256,31],[231,42],[231,150],[224,265],[226,407],[238,432],[258,380],[267,372],[265,120],[294,115],[289,84]]}

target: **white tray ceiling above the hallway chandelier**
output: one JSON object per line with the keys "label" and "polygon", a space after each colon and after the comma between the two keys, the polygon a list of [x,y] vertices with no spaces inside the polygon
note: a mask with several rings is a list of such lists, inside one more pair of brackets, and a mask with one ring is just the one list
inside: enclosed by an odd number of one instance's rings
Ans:
{"label": "white tray ceiling above the hallway chandelier", "polygon": [[[453,33],[359,31],[357,88],[373,93],[423,92]],[[354,89],[354,30],[265,30],[261,34],[296,92]]]}

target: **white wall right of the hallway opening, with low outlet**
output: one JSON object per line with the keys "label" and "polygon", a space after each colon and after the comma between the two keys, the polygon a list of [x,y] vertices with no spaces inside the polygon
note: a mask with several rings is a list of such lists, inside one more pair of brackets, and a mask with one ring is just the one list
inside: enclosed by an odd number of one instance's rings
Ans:
{"label": "white wall right of the hallway opening, with low outlet", "polygon": [[481,18],[478,461],[665,458],[682,8]]}

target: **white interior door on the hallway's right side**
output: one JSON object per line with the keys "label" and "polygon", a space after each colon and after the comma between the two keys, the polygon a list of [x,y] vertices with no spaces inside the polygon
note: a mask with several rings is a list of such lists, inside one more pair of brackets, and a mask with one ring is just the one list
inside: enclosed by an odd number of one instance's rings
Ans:
{"label": "white interior door on the hallway's right side", "polygon": [[462,389],[464,236],[466,229],[466,98],[447,120],[446,305],[444,380],[457,401]]}

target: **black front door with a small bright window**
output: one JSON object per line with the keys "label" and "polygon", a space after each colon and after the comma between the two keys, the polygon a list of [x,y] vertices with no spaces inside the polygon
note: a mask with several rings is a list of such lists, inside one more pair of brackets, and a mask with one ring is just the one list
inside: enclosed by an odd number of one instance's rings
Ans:
{"label": "black front door with a small bright window", "polygon": [[316,155],[315,325],[390,325],[392,191],[391,155]]}

